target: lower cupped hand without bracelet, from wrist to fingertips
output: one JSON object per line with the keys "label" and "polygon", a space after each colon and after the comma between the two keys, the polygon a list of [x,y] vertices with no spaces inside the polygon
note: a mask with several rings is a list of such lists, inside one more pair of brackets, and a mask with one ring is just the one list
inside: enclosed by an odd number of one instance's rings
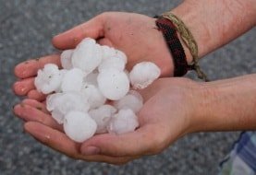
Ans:
{"label": "lower cupped hand without bracelet, from wrist to fingertips", "polygon": [[45,146],[86,161],[124,164],[154,155],[184,134],[193,132],[193,116],[198,104],[199,84],[186,78],[161,78],[141,90],[144,106],[138,113],[140,127],[128,134],[96,134],[82,144],[63,133],[45,109],[33,99],[24,99],[14,108],[25,121],[25,131]]}

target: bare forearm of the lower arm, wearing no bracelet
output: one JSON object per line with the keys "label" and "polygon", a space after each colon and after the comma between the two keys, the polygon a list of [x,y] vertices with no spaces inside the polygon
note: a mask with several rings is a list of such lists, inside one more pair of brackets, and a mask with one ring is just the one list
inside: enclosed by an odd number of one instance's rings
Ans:
{"label": "bare forearm of the lower arm, wearing no bracelet", "polygon": [[256,130],[256,75],[201,84],[195,131]]}

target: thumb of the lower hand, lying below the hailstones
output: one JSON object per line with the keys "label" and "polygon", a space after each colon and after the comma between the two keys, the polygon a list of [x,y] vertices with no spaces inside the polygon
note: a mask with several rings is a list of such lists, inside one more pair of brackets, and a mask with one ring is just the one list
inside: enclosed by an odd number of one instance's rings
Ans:
{"label": "thumb of the lower hand, lying below the hailstones", "polygon": [[94,148],[99,154],[111,157],[151,154],[151,148],[154,146],[152,134],[152,130],[147,126],[128,134],[98,134],[82,144],[81,153],[90,154],[90,150]]}

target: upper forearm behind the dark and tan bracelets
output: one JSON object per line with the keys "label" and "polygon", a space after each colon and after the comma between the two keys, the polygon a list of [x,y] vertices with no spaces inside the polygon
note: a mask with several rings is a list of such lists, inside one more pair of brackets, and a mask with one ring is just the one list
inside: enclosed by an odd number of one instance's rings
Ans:
{"label": "upper forearm behind the dark and tan bracelets", "polygon": [[[172,12],[190,29],[198,43],[200,57],[256,25],[255,0],[186,0]],[[186,55],[191,62],[187,48]]]}

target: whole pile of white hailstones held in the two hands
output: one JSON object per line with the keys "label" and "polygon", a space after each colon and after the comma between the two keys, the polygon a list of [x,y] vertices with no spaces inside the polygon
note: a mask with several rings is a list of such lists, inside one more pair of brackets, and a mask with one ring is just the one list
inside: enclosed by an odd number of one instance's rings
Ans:
{"label": "whole pile of white hailstones held in the two hands", "polygon": [[46,108],[69,138],[84,142],[93,134],[125,134],[138,126],[143,99],[135,89],[160,76],[151,62],[136,64],[128,73],[124,52],[87,38],[61,54],[61,65],[45,64],[35,87],[46,98]]}

